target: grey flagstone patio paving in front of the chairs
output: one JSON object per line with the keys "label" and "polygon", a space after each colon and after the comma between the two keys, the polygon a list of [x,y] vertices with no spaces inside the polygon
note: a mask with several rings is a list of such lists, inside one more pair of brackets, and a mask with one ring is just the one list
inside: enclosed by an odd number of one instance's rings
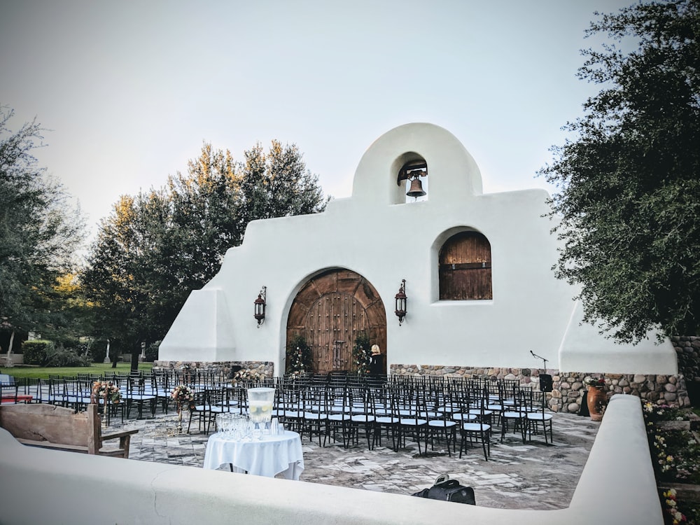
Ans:
{"label": "grey flagstone patio paving in front of the chairs", "polygon": [[[208,435],[197,429],[176,435],[176,415],[156,414],[154,419],[112,421],[114,427],[138,428],[132,436],[130,457],[202,468]],[[568,507],[586,463],[600,423],[576,414],[554,414],[554,444],[542,435],[523,444],[519,435],[491,438],[491,456],[468,449],[462,458],[448,456],[444,444],[419,455],[415,443],[393,451],[382,446],[367,449],[366,440],[348,449],[328,442],[318,446],[302,438],[304,472],[301,481],[346,486],[370,491],[410,495],[449,474],[472,486],[476,504],[505,509],[561,509]],[[386,442],[384,442],[386,445]]]}

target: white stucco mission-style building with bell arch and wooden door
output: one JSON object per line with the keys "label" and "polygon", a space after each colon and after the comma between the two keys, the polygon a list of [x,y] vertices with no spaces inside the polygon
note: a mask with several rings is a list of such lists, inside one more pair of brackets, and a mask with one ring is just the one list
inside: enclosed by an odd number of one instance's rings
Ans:
{"label": "white stucco mission-style building with bell arch and wooden door", "polygon": [[[409,185],[426,195],[408,197]],[[620,345],[580,323],[575,288],[552,272],[558,241],[543,217],[547,197],[484,194],[479,167],[451,133],[397,127],[360,159],[351,197],[322,214],[248,224],[221,271],[190,294],[159,360],[267,361],[281,375],[288,339],[303,335],[315,371],[352,370],[364,331],[389,369],[536,368],[534,351],[561,371],[676,374],[668,340],[650,334]],[[263,287],[258,324],[253,303]]]}

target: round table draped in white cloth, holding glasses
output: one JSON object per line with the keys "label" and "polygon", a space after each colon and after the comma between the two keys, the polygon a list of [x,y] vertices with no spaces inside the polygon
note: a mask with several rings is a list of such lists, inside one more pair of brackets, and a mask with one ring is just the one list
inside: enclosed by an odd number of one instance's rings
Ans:
{"label": "round table draped in white cloth, holding glasses", "polygon": [[204,468],[216,470],[225,463],[232,465],[233,472],[267,477],[281,473],[286,479],[299,479],[304,470],[302,441],[290,430],[251,441],[234,441],[221,433],[211,435],[204,452]]}

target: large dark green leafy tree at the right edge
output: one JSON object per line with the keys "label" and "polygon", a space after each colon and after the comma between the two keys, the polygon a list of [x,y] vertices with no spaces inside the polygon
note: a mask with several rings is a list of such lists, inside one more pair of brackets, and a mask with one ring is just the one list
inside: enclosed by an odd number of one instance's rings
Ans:
{"label": "large dark green leafy tree at the right edge", "polygon": [[[700,2],[652,1],[601,15],[578,76],[601,85],[575,139],[540,170],[563,248],[556,276],[580,285],[585,321],[638,342],[700,325]],[[630,48],[636,41],[636,48]],[[615,45],[618,43],[619,45]]]}

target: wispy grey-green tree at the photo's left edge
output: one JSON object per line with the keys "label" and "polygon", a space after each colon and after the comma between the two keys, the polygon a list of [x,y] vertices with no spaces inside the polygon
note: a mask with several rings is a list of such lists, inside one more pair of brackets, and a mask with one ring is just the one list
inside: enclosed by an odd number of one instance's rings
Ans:
{"label": "wispy grey-green tree at the photo's left edge", "polygon": [[75,268],[83,220],[32,155],[43,129],[35,119],[11,132],[13,114],[0,106],[0,322],[46,336],[66,313],[57,279]]}

